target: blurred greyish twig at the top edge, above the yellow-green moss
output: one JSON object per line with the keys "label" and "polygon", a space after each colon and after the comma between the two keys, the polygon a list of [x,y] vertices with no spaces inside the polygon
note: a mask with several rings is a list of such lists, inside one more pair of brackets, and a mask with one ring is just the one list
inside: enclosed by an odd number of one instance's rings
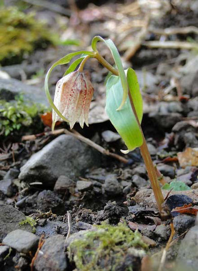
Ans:
{"label": "blurred greyish twig at the top edge, above the yellow-green moss", "polygon": [[39,6],[39,7],[63,14],[63,15],[67,15],[67,16],[71,15],[71,12],[69,9],[65,9],[65,8],[63,8],[57,4],[51,3],[47,0],[42,0],[42,1],[40,1],[40,0],[23,0],[23,2],[31,4],[31,5]]}

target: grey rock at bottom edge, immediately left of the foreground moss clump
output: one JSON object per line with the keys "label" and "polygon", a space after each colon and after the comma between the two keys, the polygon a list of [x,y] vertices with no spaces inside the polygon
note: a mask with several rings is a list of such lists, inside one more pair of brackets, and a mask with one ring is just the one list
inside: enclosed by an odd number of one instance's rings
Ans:
{"label": "grey rock at bottom edge, immediately left of the foreground moss clump", "polygon": [[66,271],[68,267],[64,252],[65,237],[62,235],[52,236],[45,240],[41,253],[35,260],[37,271]]}

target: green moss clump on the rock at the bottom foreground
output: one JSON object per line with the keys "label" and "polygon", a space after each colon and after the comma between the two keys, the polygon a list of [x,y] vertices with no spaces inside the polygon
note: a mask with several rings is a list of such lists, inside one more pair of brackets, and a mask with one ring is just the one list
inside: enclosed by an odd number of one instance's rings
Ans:
{"label": "green moss clump on the rock at the bottom foreground", "polygon": [[[75,239],[68,247],[69,258],[77,270],[117,270],[129,248],[147,248],[141,234],[132,232],[125,224],[118,226],[103,224],[96,230],[85,233],[83,238]],[[126,267],[125,270],[132,270]]]}

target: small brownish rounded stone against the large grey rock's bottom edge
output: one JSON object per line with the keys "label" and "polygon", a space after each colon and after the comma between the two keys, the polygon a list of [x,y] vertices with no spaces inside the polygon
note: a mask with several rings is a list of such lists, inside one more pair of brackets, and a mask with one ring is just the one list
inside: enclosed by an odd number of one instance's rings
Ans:
{"label": "small brownish rounded stone against the large grey rock's bottom edge", "polygon": [[54,186],[54,192],[59,193],[59,194],[65,194],[71,187],[75,186],[75,182],[64,175],[61,175],[58,177],[55,186]]}

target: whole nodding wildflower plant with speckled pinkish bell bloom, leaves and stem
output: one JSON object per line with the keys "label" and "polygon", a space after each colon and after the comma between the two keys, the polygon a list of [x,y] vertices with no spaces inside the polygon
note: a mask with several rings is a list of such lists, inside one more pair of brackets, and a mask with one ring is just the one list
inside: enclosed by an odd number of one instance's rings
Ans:
{"label": "whole nodding wildflower plant with speckled pinkish bell bloom, leaves and stem", "polygon": [[[104,42],[110,49],[116,68],[110,65],[98,52],[97,42],[99,41]],[[92,51],[69,53],[69,55],[55,62],[46,74],[45,92],[53,109],[52,130],[58,120],[69,122],[71,128],[73,128],[76,121],[80,123],[81,127],[83,127],[84,122],[88,125],[89,105],[93,95],[93,87],[88,76],[83,72],[83,67],[89,58],[96,59],[111,74],[106,84],[105,110],[127,147],[127,150],[121,151],[128,153],[140,147],[157,206],[161,210],[161,204],[164,200],[158,183],[156,168],[151,160],[141,128],[143,99],[137,75],[132,68],[123,69],[119,52],[112,40],[105,40],[100,36],[96,36],[92,39],[91,47]],[[58,81],[53,101],[48,88],[50,74],[57,65],[68,64],[75,56],[80,57],[70,64],[63,77]],[[77,69],[78,65],[80,66]],[[75,71],[76,69],[77,71]]]}

